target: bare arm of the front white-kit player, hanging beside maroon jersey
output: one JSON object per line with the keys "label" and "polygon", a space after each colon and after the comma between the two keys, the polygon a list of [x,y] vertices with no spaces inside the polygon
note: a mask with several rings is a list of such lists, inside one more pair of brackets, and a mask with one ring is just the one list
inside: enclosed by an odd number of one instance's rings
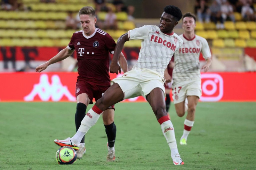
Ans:
{"label": "bare arm of the front white-kit player, hanging beside maroon jersey", "polygon": [[121,67],[118,65],[117,62],[119,60],[120,53],[123,49],[123,45],[125,44],[126,41],[129,41],[128,33],[121,35],[117,40],[117,45],[115,46],[113,60],[111,62],[110,69],[109,69],[110,73],[116,73],[116,74],[118,74],[118,72],[121,73]]}

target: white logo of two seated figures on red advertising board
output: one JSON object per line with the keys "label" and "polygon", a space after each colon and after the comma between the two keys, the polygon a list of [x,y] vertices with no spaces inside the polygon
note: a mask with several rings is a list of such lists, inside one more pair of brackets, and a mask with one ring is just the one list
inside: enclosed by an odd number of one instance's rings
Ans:
{"label": "white logo of two seated figures on red advertising board", "polygon": [[63,86],[58,75],[51,77],[51,84],[47,74],[42,74],[39,83],[35,84],[32,91],[24,97],[25,101],[33,101],[38,95],[42,101],[59,101],[66,96],[69,101],[75,101],[75,97],[69,92],[67,86]]}

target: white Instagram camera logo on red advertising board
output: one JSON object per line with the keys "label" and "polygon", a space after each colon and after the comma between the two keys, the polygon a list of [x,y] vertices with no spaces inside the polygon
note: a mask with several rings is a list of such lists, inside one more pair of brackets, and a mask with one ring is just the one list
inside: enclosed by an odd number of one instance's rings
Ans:
{"label": "white Instagram camera logo on red advertising board", "polygon": [[214,102],[223,97],[223,78],[218,74],[201,74],[201,101]]}

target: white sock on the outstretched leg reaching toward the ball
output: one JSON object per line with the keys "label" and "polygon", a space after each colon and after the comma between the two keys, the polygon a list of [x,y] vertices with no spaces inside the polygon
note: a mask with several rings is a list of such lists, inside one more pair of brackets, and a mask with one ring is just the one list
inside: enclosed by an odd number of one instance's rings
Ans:
{"label": "white sock on the outstretched leg reaching toward the ball", "polygon": [[83,120],[81,121],[81,125],[77,131],[77,133],[71,138],[71,141],[75,144],[79,143],[78,141],[81,141],[83,136],[87,133],[87,131],[96,124],[96,122],[99,119],[100,114],[93,111],[93,109],[90,109]]}

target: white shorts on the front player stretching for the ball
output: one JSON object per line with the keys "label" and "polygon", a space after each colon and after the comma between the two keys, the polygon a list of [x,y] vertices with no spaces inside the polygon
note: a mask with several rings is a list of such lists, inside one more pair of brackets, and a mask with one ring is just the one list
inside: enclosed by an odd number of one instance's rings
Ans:
{"label": "white shorts on the front player stretching for the ball", "polygon": [[117,83],[124,93],[124,99],[130,99],[141,95],[146,98],[146,95],[157,87],[165,93],[164,82],[165,78],[157,71],[133,68],[121,77],[114,78],[111,85]]}

